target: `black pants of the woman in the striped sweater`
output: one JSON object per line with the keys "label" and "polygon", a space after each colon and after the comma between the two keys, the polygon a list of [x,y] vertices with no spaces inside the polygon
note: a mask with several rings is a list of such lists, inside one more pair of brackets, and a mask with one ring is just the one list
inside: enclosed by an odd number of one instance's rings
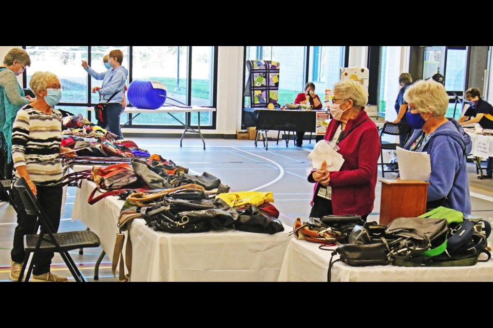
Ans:
{"label": "black pants of the woman in the striped sweater", "polygon": [[[24,204],[22,203],[17,190],[15,188],[13,190],[17,205],[17,227],[15,227],[14,244],[10,256],[12,261],[22,263],[26,256],[26,253],[24,252],[24,236],[34,232],[37,217],[26,213]],[[37,199],[41,204],[41,208],[48,216],[55,232],[58,231],[58,227],[60,226],[60,212],[62,209],[62,186],[36,186],[36,190]],[[32,273],[34,275],[42,275],[50,272],[52,258],[53,252],[37,252],[35,258],[32,259],[34,263]]]}

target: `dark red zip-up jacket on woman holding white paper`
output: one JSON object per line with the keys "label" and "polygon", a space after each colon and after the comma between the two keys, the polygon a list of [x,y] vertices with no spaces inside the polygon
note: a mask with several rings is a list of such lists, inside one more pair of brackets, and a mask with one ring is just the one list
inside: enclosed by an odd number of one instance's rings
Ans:
{"label": "dark red zip-up jacket on woman holding white paper", "polygon": [[[357,126],[359,123],[361,125]],[[327,127],[325,140],[330,140],[341,124],[332,119]],[[350,132],[353,127],[354,131]],[[377,164],[380,156],[378,129],[365,110],[350,119],[344,130],[345,137],[339,142],[338,153],[343,155],[344,163],[340,171],[330,172],[329,186],[332,187],[332,209],[334,215],[366,215],[373,210]],[[349,135],[348,135],[349,133]],[[310,182],[315,182],[310,174]],[[313,189],[313,199],[318,183]]]}

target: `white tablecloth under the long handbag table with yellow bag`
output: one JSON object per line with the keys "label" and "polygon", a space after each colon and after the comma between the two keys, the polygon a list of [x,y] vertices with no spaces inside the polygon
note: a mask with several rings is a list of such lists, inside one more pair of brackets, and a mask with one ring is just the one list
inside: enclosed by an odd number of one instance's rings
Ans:
{"label": "white tablecloth under the long handbag table with yellow bag", "polygon": [[[82,182],[72,217],[100,237],[112,258],[123,200],[110,196],[91,206],[87,198],[95,186]],[[290,230],[285,226],[285,231],[274,235],[235,230],[170,234],[154,231],[143,219],[136,219],[129,230],[131,281],[277,281]]]}

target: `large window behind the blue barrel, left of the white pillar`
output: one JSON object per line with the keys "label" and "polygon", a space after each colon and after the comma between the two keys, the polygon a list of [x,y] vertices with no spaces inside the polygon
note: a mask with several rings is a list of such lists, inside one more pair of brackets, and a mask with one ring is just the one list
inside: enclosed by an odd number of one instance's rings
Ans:
{"label": "large window behind the blue barrel, left of the white pillar", "polygon": [[[59,76],[63,92],[60,108],[71,113],[92,116],[86,107],[99,103],[99,94],[92,93],[93,87],[101,87],[102,81],[92,77],[81,66],[81,60],[89,61],[97,72],[105,72],[103,56],[110,50],[123,52],[122,65],[128,69],[127,86],[132,79],[157,80],[167,86],[166,105],[180,105],[171,98],[186,105],[216,106],[217,47],[161,46],[81,46],[81,47],[25,47],[31,57],[31,67],[26,70],[27,86],[35,71],[51,71]],[[24,87],[27,87],[24,86]],[[176,114],[177,118],[195,125],[197,113]],[[186,116],[186,117],[185,117]],[[128,121],[130,115],[122,115],[121,123]],[[215,125],[215,113],[202,113],[200,123],[203,128]],[[168,114],[141,114],[130,126],[139,128],[176,127],[176,121]]]}

